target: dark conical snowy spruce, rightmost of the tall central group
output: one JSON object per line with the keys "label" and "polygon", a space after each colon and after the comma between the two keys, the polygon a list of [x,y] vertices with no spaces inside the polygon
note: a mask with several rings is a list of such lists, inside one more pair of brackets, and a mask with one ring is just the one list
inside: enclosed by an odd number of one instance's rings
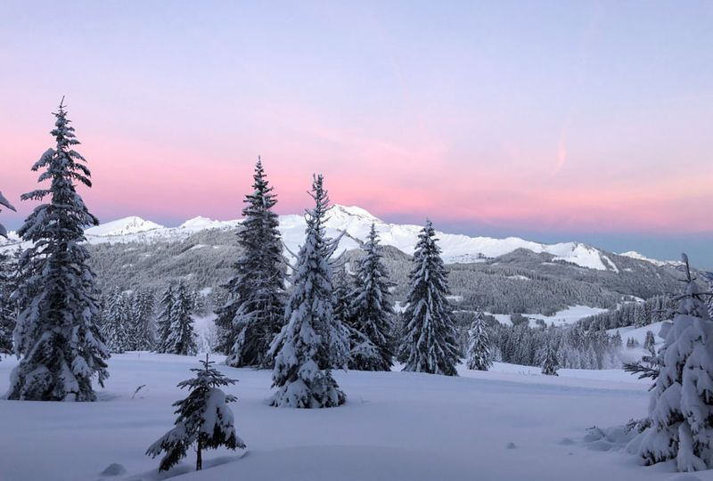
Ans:
{"label": "dark conical snowy spruce, rightmost of the tall central group", "polygon": [[447,272],[430,220],[418,237],[414,267],[409,274],[405,335],[400,347],[406,358],[404,371],[457,376],[457,333],[446,298]]}

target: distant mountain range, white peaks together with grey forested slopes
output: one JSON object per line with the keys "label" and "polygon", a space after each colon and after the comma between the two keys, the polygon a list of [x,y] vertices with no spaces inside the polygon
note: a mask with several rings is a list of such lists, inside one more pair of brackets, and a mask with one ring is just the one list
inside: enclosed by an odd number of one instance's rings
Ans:
{"label": "distant mountain range, white peaks together with grey forested slopes", "polygon": [[[281,216],[280,223],[289,257],[303,239],[304,219]],[[372,223],[380,232],[387,265],[397,282],[395,298],[403,300],[410,254],[421,227],[387,224],[364,209],[335,206],[327,232],[332,237],[343,232],[339,250],[354,262]],[[196,217],[168,228],[127,217],[88,229],[86,234],[102,289],[162,289],[168,281],[182,278],[195,289],[217,292],[240,255],[235,240],[240,225],[240,221]],[[578,242],[548,245],[443,232],[438,237],[460,310],[553,314],[567,306],[611,308],[622,300],[679,289],[675,264],[631,253],[619,256]]]}

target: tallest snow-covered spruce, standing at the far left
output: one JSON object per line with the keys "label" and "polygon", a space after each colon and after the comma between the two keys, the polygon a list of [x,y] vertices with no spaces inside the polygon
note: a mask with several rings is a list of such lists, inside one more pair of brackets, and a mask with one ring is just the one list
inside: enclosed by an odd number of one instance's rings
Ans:
{"label": "tallest snow-covered spruce, standing at the far left", "polygon": [[99,221],[86,208],[75,183],[91,187],[85,159],[73,150],[74,128],[61,103],[52,135],[54,149],[32,167],[48,189],[22,195],[45,200],[27,217],[18,235],[30,246],[20,257],[18,316],[14,349],[22,355],[12,371],[9,399],[94,401],[92,378],[103,386],[109,375],[97,322],[101,315],[94,273],[83,245],[86,225]]}

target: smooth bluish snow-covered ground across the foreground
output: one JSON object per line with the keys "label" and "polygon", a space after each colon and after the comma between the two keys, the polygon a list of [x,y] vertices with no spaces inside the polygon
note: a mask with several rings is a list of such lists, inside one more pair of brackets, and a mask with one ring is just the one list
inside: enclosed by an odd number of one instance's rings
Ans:
{"label": "smooth bluish snow-covered ground across the foreground", "polygon": [[[13,358],[0,362],[0,391]],[[327,410],[266,404],[270,372],[220,370],[240,379],[228,392],[247,452],[217,451],[193,472],[190,458],[158,476],[143,453],[171,428],[176,383],[196,358],[128,353],[111,358],[111,378],[97,403],[0,401],[0,478],[8,481],[178,477],[202,481],[656,481],[672,465],[637,466],[623,452],[593,451],[586,428],[625,423],[646,412],[645,381],[622,371],[562,370],[496,364],[461,369],[460,378],[405,372],[336,372],[348,403]],[[136,387],[145,385],[135,398]],[[508,447],[508,446],[511,447]],[[514,445],[514,447],[512,447]],[[697,473],[713,480],[713,472]],[[693,478],[692,478],[693,479]]]}

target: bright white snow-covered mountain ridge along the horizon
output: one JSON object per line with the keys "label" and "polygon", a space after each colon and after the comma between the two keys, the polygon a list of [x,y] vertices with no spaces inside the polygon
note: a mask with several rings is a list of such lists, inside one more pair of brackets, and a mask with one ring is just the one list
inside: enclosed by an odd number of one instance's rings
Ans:
{"label": "bright white snow-covered mountain ridge along the horizon", "polygon": [[[241,222],[241,220],[217,221],[199,216],[187,220],[178,227],[166,227],[138,216],[130,216],[89,228],[86,230],[86,238],[92,244],[182,240],[195,232],[206,229],[234,229]],[[339,251],[358,248],[360,242],[365,240],[372,224],[376,226],[383,244],[393,246],[406,254],[414,252],[414,246],[422,226],[389,224],[363,208],[335,205],[330,211],[326,227],[327,233],[332,237],[337,237],[341,232],[344,232],[340,240]],[[304,217],[299,215],[280,216],[280,231],[287,249],[297,252],[299,245],[304,240]],[[443,249],[444,260],[447,263],[478,262],[487,257],[502,256],[516,249],[528,249],[536,253],[551,254],[554,256],[553,260],[564,260],[589,269],[619,271],[617,265],[602,250],[579,242],[542,244],[518,237],[494,239],[446,232],[438,232],[438,238],[439,245]],[[17,240],[16,237],[14,239]],[[627,252],[623,255],[649,261],[655,265],[667,264],[663,261],[643,257],[635,252]]]}

